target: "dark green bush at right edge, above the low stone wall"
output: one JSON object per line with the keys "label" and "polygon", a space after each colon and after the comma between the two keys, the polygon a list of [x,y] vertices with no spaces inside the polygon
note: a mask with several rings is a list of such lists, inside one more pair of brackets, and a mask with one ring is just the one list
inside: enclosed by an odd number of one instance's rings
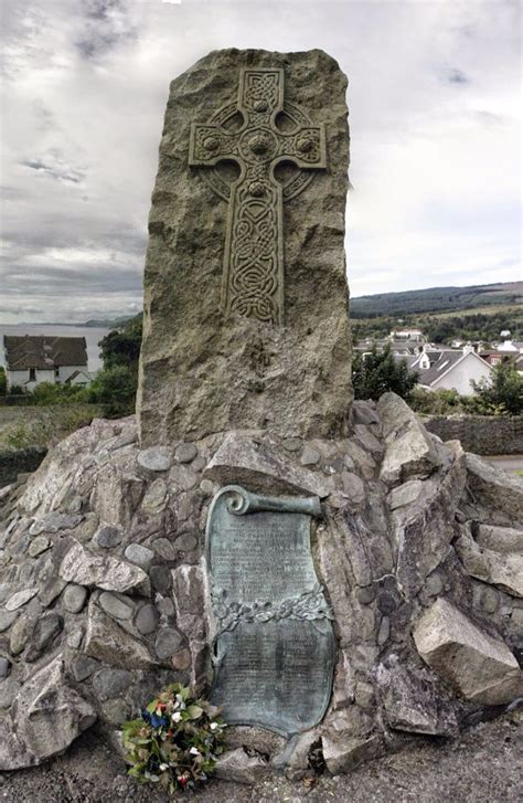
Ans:
{"label": "dark green bush at right edge, above the low stone wall", "polygon": [[510,358],[494,366],[489,379],[472,381],[476,397],[472,404],[483,415],[521,415],[523,413],[523,377]]}

